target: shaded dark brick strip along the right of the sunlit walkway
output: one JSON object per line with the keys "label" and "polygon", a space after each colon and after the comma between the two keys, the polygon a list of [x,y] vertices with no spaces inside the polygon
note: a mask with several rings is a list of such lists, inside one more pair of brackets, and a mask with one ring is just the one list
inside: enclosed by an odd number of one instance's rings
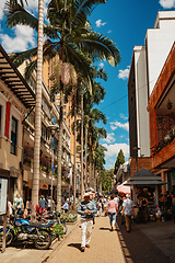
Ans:
{"label": "shaded dark brick strip along the right of the sunlit walkway", "polygon": [[172,261],[132,224],[132,230],[126,231],[125,225],[117,220],[116,227],[126,262],[133,263],[171,263]]}

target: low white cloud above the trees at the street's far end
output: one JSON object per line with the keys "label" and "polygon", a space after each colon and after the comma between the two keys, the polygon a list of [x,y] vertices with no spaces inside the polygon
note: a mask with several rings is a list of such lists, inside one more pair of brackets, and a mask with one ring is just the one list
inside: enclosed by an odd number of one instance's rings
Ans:
{"label": "low white cloud above the trees at the street's far end", "polygon": [[129,145],[127,144],[114,144],[114,145],[103,144],[103,146],[107,148],[106,159],[107,157],[112,158],[113,156],[115,156],[116,158],[120,149],[124,151],[126,158],[129,157]]}

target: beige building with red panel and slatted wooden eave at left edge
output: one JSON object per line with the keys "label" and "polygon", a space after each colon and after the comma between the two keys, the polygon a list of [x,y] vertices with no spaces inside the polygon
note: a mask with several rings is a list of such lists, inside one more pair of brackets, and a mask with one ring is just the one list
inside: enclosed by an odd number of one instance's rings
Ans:
{"label": "beige building with red panel and slatted wooden eave at left edge", "polygon": [[23,195],[23,122],[35,93],[0,45],[0,173],[9,174],[9,198]]}

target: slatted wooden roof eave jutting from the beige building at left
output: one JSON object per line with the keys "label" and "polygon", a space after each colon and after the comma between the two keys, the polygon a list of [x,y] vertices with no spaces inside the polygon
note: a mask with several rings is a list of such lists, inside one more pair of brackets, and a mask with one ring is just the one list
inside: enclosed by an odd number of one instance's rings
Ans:
{"label": "slatted wooden roof eave jutting from the beige building at left", "polygon": [[0,78],[26,108],[35,105],[35,93],[0,45]]}

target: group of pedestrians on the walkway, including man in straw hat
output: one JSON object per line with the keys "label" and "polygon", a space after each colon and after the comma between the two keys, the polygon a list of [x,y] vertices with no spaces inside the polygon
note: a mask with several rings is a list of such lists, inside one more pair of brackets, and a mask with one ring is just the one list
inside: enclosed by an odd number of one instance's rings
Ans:
{"label": "group of pedestrians on the walkway, including man in straw hat", "polygon": [[116,226],[117,215],[120,213],[125,217],[127,232],[131,230],[131,216],[133,216],[133,202],[130,195],[124,197],[112,194],[110,196],[95,195],[92,192],[84,194],[84,199],[79,204],[77,209],[81,215],[81,252],[90,248],[92,227],[95,224],[95,214],[97,217],[109,217],[110,231]]}

